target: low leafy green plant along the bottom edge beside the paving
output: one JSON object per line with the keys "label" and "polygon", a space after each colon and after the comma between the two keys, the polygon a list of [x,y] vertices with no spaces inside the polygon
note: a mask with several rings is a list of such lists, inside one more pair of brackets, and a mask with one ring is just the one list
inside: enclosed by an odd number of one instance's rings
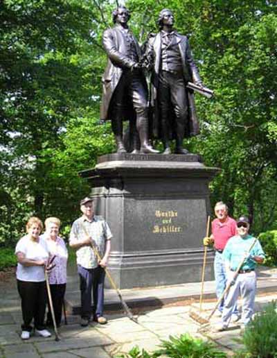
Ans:
{"label": "low leafy green plant along the bottom edge beside the paving", "polygon": [[181,334],[179,338],[170,336],[169,341],[161,341],[161,348],[152,355],[136,346],[118,358],[157,358],[161,355],[170,358],[226,358],[226,353],[217,350],[212,343],[195,339],[189,334]]}

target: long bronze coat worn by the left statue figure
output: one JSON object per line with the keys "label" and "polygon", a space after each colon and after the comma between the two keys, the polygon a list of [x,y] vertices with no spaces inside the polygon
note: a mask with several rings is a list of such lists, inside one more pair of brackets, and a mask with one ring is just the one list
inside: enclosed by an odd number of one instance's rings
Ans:
{"label": "long bronze coat worn by the left statue figure", "polygon": [[[141,57],[141,49],[138,42],[134,38],[136,52]],[[108,62],[105,72],[102,76],[102,102],[100,107],[100,118],[103,120],[111,120],[111,99],[116,86],[123,74],[123,69],[132,69],[135,62],[127,57],[127,47],[125,37],[120,25],[114,28],[108,28],[103,33],[102,44],[107,52]],[[143,83],[146,85],[145,78],[142,77]],[[126,108],[126,117],[132,111],[132,108]],[[127,119],[127,118],[125,118]]]}

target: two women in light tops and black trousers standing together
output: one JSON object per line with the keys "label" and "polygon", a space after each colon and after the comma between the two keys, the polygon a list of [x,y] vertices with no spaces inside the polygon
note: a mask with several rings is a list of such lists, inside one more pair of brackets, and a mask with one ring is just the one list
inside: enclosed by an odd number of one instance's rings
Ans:
{"label": "two women in light tops and black trousers standing together", "polygon": [[[46,295],[46,274],[57,326],[60,325],[62,318],[68,253],[64,240],[59,237],[59,219],[55,217],[46,219],[44,235],[40,235],[42,228],[42,221],[35,216],[31,217],[26,224],[27,235],[17,242],[15,248],[18,262],[17,290],[21,298],[23,318],[21,339],[30,338],[30,333],[33,331],[32,321],[34,321],[36,334],[44,337],[51,336],[51,333],[46,330],[46,325],[53,326],[50,302]],[[45,322],[47,302],[48,314]]]}

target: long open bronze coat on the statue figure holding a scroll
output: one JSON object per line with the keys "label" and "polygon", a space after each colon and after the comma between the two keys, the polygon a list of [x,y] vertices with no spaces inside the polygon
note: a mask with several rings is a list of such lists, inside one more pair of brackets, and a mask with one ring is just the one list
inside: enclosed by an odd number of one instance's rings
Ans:
{"label": "long open bronze coat on the statue figure holding a scroll", "polygon": [[[177,36],[177,44],[181,54],[183,76],[185,83],[201,81],[193,56],[190,53],[190,46],[188,44],[188,37]],[[150,37],[148,46],[146,48],[145,56],[152,62],[152,75],[150,83],[150,105],[152,108],[152,135],[156,138],[161,138],[161,128],[159,121],[159,99],[157,98],[157,88],[159,86],[159,71],[161,70],[161,33],[157,33],[154,37]],[[188,96],[188,128],[185,128],[185,136],[199,134],[199,121],[197,119],[195,110],[195,100],[193,92],[187,89]],[[174,112],[172,111],[174,115]],[[172,135],[172,137],[175,137]]]}

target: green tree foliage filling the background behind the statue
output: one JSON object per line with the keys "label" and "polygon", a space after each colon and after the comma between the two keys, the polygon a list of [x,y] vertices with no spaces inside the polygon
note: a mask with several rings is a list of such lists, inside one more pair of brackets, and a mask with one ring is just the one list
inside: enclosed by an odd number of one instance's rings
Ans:
{"label": "green tree foliage filling the background behind the statue", "polygon": [[[190,37],[211,101],[195,96],[201,133],[186,146],[210,167],[211,204],[249,214],[254,233],[277,229],[277,5],[246,0],[126,0],[143,43],[162,8]],[[0,245],[14,245],[30,215],[62,229],[89,193],[78,171],[114,151],[99,124],[102,31],[116,1],[0,2]]]}

